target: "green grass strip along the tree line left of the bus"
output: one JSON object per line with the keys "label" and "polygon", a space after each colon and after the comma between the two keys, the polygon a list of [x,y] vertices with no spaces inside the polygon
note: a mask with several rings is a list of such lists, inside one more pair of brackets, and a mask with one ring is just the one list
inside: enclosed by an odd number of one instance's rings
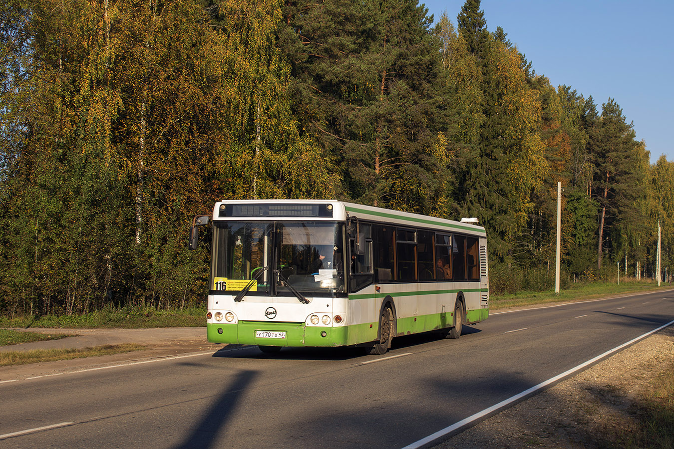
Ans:
{"label": "green grass strip along the tree line left of the bus", "polygon": [[0,327],[123,328],[206,326],[206,308],[156,310],[155,308],[108,308],[83,315],[0,316]]}

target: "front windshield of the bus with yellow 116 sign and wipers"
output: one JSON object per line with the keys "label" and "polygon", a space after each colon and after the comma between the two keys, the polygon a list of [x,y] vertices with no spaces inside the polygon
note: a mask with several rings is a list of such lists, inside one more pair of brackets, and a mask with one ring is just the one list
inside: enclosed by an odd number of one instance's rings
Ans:
{"label": "front windshield of the bus with yellow 116 sign and wipers", "polygon": [[257,294],[344,291],[343,233],[333,221],[216,222],[211,288],[241,291],[256,279]]}

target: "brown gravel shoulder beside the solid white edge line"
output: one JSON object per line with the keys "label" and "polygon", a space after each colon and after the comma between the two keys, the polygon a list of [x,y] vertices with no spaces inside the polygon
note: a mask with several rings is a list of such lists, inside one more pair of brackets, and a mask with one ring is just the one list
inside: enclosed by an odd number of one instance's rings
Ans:
{"label": "brown gravel shoulder beside the solid white edge line", "polygon": [[669,326],[433,449],[615,448],[641,418],[640,393],[673,362]]}

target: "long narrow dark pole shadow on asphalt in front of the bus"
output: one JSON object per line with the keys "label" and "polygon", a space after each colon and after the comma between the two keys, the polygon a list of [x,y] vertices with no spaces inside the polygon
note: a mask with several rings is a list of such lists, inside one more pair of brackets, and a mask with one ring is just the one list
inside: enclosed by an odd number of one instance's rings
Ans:
{"label": "long narrow dark pole shadow on asphalt in front of the bus", "polygon": [[218,434],[226,427],[228,419],[241,402],[241,394],[256,376],[254,371],[242,371],[205,413],[202,421],[185,440],[173,449],[208,449],[214,447]]}

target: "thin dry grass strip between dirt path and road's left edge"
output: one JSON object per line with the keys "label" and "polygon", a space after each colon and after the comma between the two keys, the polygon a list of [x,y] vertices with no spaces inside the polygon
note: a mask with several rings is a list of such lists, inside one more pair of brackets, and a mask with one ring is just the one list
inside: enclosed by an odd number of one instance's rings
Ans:
{"label": "thin dry grass strip between dirt path and road's left edge", "polygon": [[135,343],[122,345],[102,345],[84,349],[32,349],[30,351],[0,352],[0,366],[36,364],[42,361],[78,359],[80,357],[96,357],[145,349]]}

